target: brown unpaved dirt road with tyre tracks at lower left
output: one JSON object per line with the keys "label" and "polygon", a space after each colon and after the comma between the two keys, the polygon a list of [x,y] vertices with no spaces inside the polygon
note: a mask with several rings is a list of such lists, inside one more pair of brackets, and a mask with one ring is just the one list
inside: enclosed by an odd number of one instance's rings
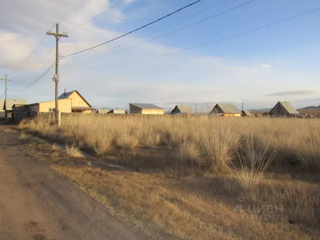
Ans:
{"label": "brown unpaved dirt road with tyre tracks at lower left", "polygon": [[18,137],[12,127],[0,126],[0,240],[150,239],[25,155]]}

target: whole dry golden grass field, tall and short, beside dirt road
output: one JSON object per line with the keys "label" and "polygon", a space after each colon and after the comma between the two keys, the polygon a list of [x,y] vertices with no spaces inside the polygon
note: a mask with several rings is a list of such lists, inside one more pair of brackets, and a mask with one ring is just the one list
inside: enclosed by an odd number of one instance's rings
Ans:
{"label": "whole dry golden grass field, tall and short, beside dirt road", "polygon": [[175,239],[320,239],[319,119],[78,114],[60,128],[18,127],[63,143],[66,158],[95,154],[87,166],[52,168],[139,228]]}

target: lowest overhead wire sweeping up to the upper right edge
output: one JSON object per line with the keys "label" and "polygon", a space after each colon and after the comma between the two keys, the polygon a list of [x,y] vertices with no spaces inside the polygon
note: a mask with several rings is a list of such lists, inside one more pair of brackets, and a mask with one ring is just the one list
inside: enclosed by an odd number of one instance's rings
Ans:
{"label": "lowest overhead wire sweeping up to the upper right edge", "polygon": [[[270,23],[270,24],[268,24],[268,25],[265,25],[265,26],[262,26],[262,27],[259,27],[259,28],[254,28],[254,29],[249,30],[249,31],[246,31],[246,32],[238,33],[238,34],[235,34],[235,35],[232,35],[232,36],[228,36],[228,37],[225,37],[225,38],[220,38],[220,39],[218,39],[218,40],[215,40],[215,41],[212,41],[212,42],[209,42],[209,43],[200,44],[200,45],[197,45],[197,46],[194,46],[194,47],[190,47],[190,48],[186,48],[186,49],[182,49],[182,50],[179,50],[179,51],[176,51],[176,52],[170,52],[170,53],[163,54],[163,55],[159,55],[159,56],[155,56],[155,57],[152,57],[152,58],[146,58],[146,59],[141,59],[141,60],[132,61],[132,62],[126,62],[126,63],[116,64],[116,65],[109,65],[109,66],[102,66],[102,67],[94,67],[94,68],[110,68],[110,67],[116,67],[116,66],[121,66],[121,65],[126,65],[126,64],[131,64],[131,63],[136,63],[136,62],[142,62],[142,61],[146,61],[146,60],[151,60],[151,59],[155,59],[155,58],[159,58],[159,57],[164,57],[164,56],[168,56],[168,55],[171,55],[171,54],[174,54],[174,53],[184,52],[184,51],[191,50],[191,49],[194,49],[194,48],[197,48],[197,47],[202,47],[202,46],[209,45],[209,44],[212,44],[212,43],[217,43],[217,42],[220,42],[220,41],[223,41],[223,40],[232,38],[232,37],[244,35],[244,34],[246,34],[246,33],[250,33],[250,32],[253,32],[253,31],[262,29],[262,28],[266,28],[266,27],[269,27],[269,26],[272,26],[272,25],[275,25],[275,24],[278,24],[278,23],[281,23],[281,22],[284,22],[284,21],[288,21],[288,20],[291,20],[291,19],[294,19],[294,18],[303,16],[303,15],[306,15],[306,14],[309,14],[309,13],[312,13],[312,12],[316,12],[316,11],[319,11],[319,10],[320,10],[320,8],[317,8],[317,9],[312,10],[312,11],[310,11],[310,12],[305,12],[305,13],[302,13],[302,14],[300,14],[300,15],[296,15],[296,16],[291,17],[291,18],[287,18],[287,19],[284,19],[284,20],[281,20],[281,21],[277,21],[277,22],[274,22],[274,23]],[[94,68],[83,68],[83,69],[94,69]],[[77,68],[74,68],[74,69],[77,69]],[[81,68],[80,68],[80,69],[81,69]]]}

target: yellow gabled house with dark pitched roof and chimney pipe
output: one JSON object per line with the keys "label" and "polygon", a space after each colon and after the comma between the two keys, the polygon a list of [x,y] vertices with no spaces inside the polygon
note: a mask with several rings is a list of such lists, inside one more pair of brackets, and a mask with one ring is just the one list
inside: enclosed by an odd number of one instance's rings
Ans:
{"label": "yellow gabled house with dark pitched roof and chimney pipe", "polygon": [[[60,100],[71,100],[71,112],[73,113],[91,113],[92,110],[96,110],[92,108],[92,106],[84,99],[84,97],[77,91],[64,92],[58,97]],[[59,110],[60,110],[59,103]],[[60,110],[62,112],[62,110]]]}

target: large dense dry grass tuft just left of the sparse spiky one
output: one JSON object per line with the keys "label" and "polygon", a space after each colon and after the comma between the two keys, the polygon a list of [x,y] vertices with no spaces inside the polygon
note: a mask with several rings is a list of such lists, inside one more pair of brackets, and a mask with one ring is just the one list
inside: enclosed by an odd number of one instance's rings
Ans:
{"label": "large dense dry grass tuft just left of the sparse spiky one", "polygon": [[213,119],[204,124],[201,144],[213,172],[228,170],[228,164],[236,156],[239,138],[230,123]]}

